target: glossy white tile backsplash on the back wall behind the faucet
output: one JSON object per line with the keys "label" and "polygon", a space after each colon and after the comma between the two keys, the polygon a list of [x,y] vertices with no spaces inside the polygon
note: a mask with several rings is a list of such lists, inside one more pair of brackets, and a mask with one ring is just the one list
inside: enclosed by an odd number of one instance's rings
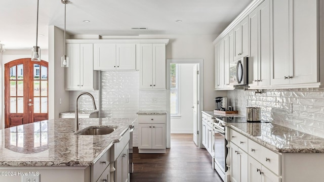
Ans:
{"label": "glossy white tile backsplash on the back wall behind the faucet", "polygon": [[[138,71],[102,71],[101,105],[99,107],[99,90],[89,92],[95,98],[97,108],[101,108],[101,117],[137,117],[139,110],[166,110],[166,90],[140,90]],[[75,109],[75,99],[79,91],[70,92],[70,110]],[[79,110],[93,110],[89,96],[78,100]],[[137,128],[134,123],[133,145],[138,146]]]}

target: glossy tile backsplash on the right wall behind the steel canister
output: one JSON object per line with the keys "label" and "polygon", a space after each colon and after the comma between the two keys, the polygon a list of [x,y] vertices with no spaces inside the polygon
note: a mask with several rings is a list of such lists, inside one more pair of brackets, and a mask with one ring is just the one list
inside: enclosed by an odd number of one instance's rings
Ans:
{"label": "glossy tile backsplash on the right wall behind the steel canister", "polygon": [[227,101],[239,114],[261,107],[263,120],[324,138],[324,88],[230,90]]}

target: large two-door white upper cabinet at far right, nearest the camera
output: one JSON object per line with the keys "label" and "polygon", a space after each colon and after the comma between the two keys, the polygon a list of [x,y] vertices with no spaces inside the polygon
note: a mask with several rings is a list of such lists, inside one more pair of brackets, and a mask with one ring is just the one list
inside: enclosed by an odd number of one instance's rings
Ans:
{"label": "large two-door white upper cabinet at far right, nearest the camera", "polygon": [[319,82],[316,0],[272,1],[271,85]]}

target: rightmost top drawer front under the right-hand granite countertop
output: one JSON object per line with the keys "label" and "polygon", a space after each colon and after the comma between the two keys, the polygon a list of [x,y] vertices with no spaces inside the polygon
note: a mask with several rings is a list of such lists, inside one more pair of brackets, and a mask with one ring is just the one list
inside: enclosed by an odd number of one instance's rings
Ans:
{"label": "rightmost top drawer front under the right-hand granite countertop", "polygon": [[261,146],[261,159],[259,161],[275,174],[281,175],[281,156],[279,154]]}

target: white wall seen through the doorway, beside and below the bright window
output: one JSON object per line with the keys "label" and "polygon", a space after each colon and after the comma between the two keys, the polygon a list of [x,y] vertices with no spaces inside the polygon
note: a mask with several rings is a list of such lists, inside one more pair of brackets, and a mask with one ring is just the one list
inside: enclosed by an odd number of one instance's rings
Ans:
{"label": "white wall seen through the doorway, beside and below the bright window", "polygon": [[180,88],[180,116],[171,116],[171,133],[193,132],[193,66],[195,64],[178,64]]}

